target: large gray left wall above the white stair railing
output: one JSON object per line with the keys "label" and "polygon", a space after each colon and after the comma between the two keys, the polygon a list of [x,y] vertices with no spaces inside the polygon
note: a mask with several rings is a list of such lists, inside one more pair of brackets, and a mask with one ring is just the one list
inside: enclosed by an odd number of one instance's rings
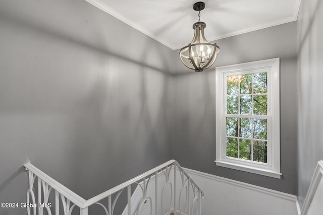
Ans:
{"label": "large gray left wall above the white stair railing", "polygon": [[0,1],[0,29],[0,202],[29,161],[87,199],[172,158],[172,50],[78,0]]}

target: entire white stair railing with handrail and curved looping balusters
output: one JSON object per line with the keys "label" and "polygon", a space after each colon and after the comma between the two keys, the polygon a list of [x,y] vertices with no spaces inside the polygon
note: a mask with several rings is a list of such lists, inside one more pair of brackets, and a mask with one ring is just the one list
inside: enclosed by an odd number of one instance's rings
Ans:
{"label": "entire white stair railing with handrail and curved looping balusters", "polygon": [[[145,213],[147,215],[170,215],[171,213],[201,215],[201,199],[204,193],[175,160],[159,165],[88,200],[69,190],[32,164],[24,166],[29,176],[27,204],[31,206],[27,207],[28,215],[42,215],[43,210],[46,210],[46,214],[49,215],[59,215],[62,210],[62,214],[71,215],[73,210],[77,210],[76,208],[79,208],[80,215],[88,215],[88,208],[94,204],[101,206],[106,215],[120,215],[114,212],[118,198],[123,191],[127,191],[127,206],[124,210],[127,215],[144,214],[142,209],[147,208],[147,202],[149,202],[149,213]],[[152,183],[153,180],[154,183]],[[34,187],[35,183],[37,183],[37,188]],[[131,194],[131,185],[137,186],[137,189],[141,191],[140,195]],[[37,190],[36,193],[35,190]],[[170,191],[170,196],[167,200],[169,205],[165,207],[166,190]],[[49,200],[51,192],[55,192],[54,202]],[[134,201],[135,198],[137,198],[136,201]],[[60,207],[63,209],[60,210]]]}

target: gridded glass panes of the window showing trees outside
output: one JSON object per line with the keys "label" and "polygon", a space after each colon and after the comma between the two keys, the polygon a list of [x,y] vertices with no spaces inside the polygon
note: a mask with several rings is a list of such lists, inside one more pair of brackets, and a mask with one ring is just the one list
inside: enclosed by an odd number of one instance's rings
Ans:
{"label": "gridded glass panes of the window showing trees outside", "polygon": [[267,73],[228,76],[226,92],[227,157],[267,163]]}

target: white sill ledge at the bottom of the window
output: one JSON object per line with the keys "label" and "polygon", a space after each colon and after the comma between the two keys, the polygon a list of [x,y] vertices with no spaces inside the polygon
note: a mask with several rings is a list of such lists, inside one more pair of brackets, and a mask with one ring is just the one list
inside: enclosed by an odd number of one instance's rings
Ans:
{"label": "white sill ledge at the bottom of the window", "polygon": [[234,163],[225,162],[225,161],[214,161],[214,162],[216,163],[217,166],[220,166],[220,167],[227,167],[227,168],[250,172],[258,175],[264,175],[264,176],[269,176],[269,177],[278,178],[278,179],[280,179],[282,176],[282,173],[278,173],[273,170],[265,170],[265,169],[250,167],[250,166],[241,165],[241,164],[234,164]]}

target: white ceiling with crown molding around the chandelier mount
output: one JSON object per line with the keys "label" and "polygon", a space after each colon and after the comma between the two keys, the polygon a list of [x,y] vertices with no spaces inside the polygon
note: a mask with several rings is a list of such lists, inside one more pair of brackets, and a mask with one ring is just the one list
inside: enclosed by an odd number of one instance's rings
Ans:
{"label": "white ceiling with crown molding around the chandelier mount", "polygon": [[[164,45],[178,49],[193,38],[193,0],[85,0]],[[297,19],[301,0],[204,0],[208,41]]]}

